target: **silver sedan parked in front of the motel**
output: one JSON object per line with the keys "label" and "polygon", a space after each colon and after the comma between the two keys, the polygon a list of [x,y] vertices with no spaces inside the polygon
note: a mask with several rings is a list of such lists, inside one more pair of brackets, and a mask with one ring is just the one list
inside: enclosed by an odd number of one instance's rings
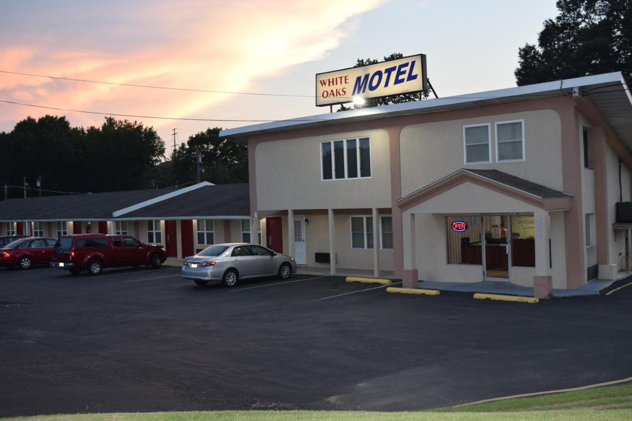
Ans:
{"label": "silver sedan parked in front of the motel", "polygon": [[197,285],[221,281],[226,287],[234,287],[240,279],[259,276],[288,279],[295,272],[294,258],[247,243],[214,244],[185,258],[182,266],[182,277]]}

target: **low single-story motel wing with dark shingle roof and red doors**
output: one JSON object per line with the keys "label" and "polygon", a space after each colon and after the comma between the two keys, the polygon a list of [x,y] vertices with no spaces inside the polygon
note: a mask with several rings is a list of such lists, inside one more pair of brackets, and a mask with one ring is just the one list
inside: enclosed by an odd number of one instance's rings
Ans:
{"label": "low single-story motel wing with dark shingle roof and red doors", "polygon": [[0,234],[58,239],[66,234],[132,235],[162,244],[181,264],[211,244],[257,241],[248,184],[149,189],[0,201]]}

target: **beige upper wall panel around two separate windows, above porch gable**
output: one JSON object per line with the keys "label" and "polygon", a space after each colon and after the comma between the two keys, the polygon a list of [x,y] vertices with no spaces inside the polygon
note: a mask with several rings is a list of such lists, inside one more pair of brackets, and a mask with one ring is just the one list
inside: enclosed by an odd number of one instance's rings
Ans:
{"label": "beige upper wall panel around two separate windows, above porch gable", "polygon": [[[525,162],[495,163],[494,123],[525,120]],[[463,126],[490,123],[492,163],[464,165]],[[461,168],[497,169],[562,190],[561,122],[537,110],[406,126],[400,139],[402,195]]]}

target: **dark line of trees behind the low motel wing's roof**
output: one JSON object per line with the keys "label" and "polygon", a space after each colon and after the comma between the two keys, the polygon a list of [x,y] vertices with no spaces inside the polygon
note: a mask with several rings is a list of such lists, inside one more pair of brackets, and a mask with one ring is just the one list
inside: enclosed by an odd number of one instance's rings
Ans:
{"label": "dark line of trees behind the low motel wing's roof", "polygon": [[[28,117],[0,132],[0,189],[8,198],[164,188],[197,181],[248,182],[246,146],[219,139],[219,127],[193,136],[166,159],[165,143],[154,127],[106,117],[100,127],[72,127],[66,117]],[[0,200],[4,191],[0,192]]]}

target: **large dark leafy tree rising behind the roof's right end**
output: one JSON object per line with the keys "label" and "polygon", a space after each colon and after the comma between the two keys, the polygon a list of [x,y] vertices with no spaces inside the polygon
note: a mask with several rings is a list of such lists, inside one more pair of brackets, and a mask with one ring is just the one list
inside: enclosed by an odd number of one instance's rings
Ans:
{"label": "large dark leafy tree rising behind the roof's right end", "polygon": [[632,80],[632,0],[558,0],[538,45],[518,50],[516,83],[622,71]]}

